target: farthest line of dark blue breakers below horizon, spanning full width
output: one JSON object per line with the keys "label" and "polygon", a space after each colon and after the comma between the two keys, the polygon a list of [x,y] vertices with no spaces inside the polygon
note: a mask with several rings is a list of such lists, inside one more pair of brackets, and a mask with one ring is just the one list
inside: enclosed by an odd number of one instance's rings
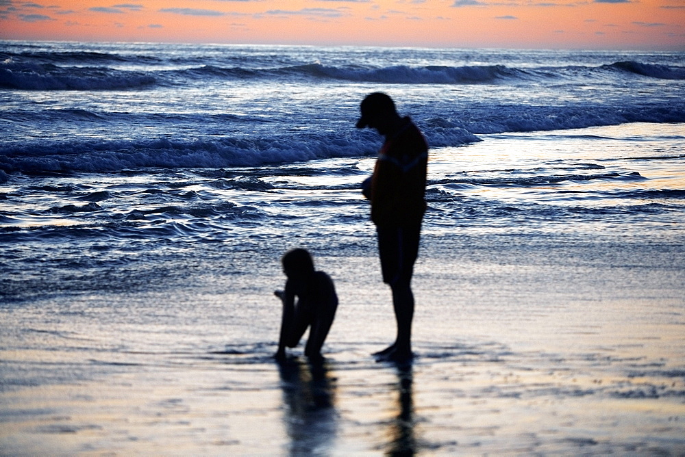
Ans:
{"label": "farthest line of dark blue breakers below horizon, spanning full width", "polygon": [[[386,84],[499,84],[515,81],[545,81],[549,79],[577,79],[587,77],[625,78],[640,75],[656,79],[685,79],[685,68],[625,61],[595,66],[558,66],[544,68],[516,68],[493,65],[427,65],[427,66],[330,66],[321,63],[248,68],[225,66],[207,58],[206,62],[179,62],[170,68],[153,56],[123,57],[106,53],[32,53],[27,55],[0,54],[0,88],[21,90],[116,90],[145,86],[183,86],[188,80],[203,79],[333,79],[360,83]],[[185,63],[185,64],[184,64]],[[88,64],[88,65],[84,65]],[[143,65],[145,70],[111,68],[117,64]],[[110,66],[108,66],[110,65]],[[156,68],[156,69],[155,69]]]}

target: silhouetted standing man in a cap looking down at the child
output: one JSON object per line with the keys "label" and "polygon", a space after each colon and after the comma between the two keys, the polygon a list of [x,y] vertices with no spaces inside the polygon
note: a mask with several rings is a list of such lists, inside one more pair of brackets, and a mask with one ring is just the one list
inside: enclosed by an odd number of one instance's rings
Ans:
{"label": "silhouetted standing man in a cap looking down at the child", "polygon": [[360,109],[357,127],[371,127],[385,137],[373,176],[362,187],[364,196],[371,200],[383,281],[393,291],[397,321],[395,343],[374,355],[380,360],[407,361],[412,358],[411,281],[426,209],[428,145],[414,122],[397,114],[387,94],[374,92],[366,96]]}

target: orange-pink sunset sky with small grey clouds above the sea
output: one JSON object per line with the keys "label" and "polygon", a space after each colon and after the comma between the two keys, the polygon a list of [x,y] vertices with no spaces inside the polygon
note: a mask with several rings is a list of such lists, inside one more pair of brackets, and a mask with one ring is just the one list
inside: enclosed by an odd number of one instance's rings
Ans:
{"label": "orange-pink sunset sky with small grey clouds above the sea", "polygon": [[685,50],[685,0],[0,0],[0,39]]}

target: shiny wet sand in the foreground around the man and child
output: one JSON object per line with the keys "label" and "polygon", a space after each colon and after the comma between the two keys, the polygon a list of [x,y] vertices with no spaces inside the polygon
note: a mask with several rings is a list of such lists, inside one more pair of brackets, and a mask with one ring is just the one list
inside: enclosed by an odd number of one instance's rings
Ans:
{"label": "shiny wet sand in the foreground around the man and child", "polygon": [[5,306],[0,453],[682,455],[678,236],[427,231],[404,366],[370,355],[394,331],[375,257],[318,259],[342,298],[323,367],[271,358],[277,265]]}

